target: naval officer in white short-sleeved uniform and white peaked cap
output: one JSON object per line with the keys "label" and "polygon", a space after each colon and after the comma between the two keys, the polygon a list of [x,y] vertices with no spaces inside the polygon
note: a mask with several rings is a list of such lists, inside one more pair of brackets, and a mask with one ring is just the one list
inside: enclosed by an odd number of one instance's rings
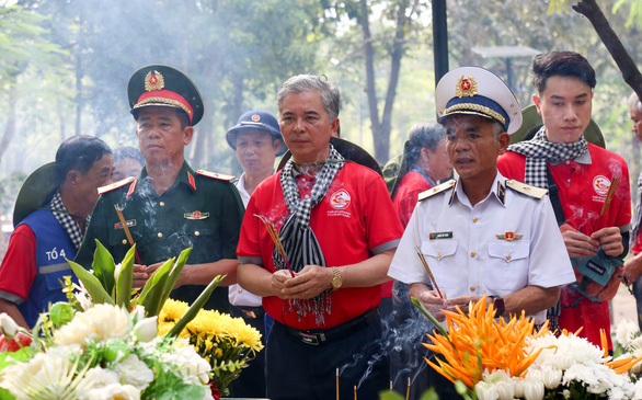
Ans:
{"label": "naval officer in white short-sleeved uniform and white peaked cap", "polygon": [[440,321],[442,310],[466,310],[485,294],[496,317],[525,311],[542,323],[574,275],[547,191],[497,171],[497,157],[521,125],[519,104],[498,77],[479,67],[445,75],[435,96],[459,178],[420,195],[388,275],[409,284],[410,295]]}

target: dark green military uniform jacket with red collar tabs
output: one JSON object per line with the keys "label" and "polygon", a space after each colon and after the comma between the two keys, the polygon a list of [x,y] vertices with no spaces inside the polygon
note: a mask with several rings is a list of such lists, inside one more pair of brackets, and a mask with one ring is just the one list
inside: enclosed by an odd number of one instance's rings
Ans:
{"label": "dark green military uniform jacket with red collar tabs", "polygon": [[[130,249],[114,205],[123,210],[144,265],[177,256],[188,247],[193,250],[187,264],[236,259],[243,203],[229,179],[217,176],[194,172],[184,162],[173,185],[160,196],[151,187],[145,168],[131,183],[114,184],[116,187],[103,192],[96,203],[76,262],[91,268],[95,239],[116,263]],[[192,304],[204,288],[181,286],[170,297]],[[216,288],[205,308],[229,312],[227,287]]]}

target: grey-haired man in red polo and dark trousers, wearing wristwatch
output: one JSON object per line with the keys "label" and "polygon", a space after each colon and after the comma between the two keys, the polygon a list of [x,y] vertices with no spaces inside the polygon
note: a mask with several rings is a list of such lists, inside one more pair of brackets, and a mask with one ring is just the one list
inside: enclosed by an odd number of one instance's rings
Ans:
{"label": "grey-haired man in red polo and dark trousers, wearing wristwatch", "polygon": [[[376,348],[380,284],[402,228],[383,179],[330,145],[339,90],[301,75],[282,85],[277,101],[293,158],[252,194],[237,249],[239,284],[263,296],[275,319],[267,397],[332,399],[339,381],[341,398],[356,386],[359,398],[376,399],[389,381]],[[257,216],[278,232],[285,259]]]}

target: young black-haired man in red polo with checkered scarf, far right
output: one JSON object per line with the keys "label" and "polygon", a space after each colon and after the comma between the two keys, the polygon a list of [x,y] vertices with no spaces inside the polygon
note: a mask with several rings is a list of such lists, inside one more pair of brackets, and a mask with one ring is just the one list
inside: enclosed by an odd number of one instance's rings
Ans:
{"label": "young black-haired man in red polo with checkered scarf, far right", "polygon": [[[577,53],[552,52],[535,57],[532,73],[538,92],[532,100],[543,126],[531,140],[508,147],[497,161],[500,172],[548,188],[550,171],[565,218],[560,230],[574,267],[598,251],[624,256],[631,221],[627,163],[584,139],[591,122],[595,71]],[[618,178],[615,196],[603,213],[609,186]],[[608,301],[592,301],[574,285],[565,286],[559,307],[549,310],[553,323],[557,318],[562,329],[583,328],[581,335],[594,344],[600,343],[599,330],[604,329],[610,342]]]}

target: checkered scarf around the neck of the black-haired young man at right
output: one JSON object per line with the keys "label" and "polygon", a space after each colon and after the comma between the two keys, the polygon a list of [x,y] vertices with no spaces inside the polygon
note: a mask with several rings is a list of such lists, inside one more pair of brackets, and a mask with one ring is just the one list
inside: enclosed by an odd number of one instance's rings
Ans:
{"label": "checkered scarf around the neck of the black-haired young man at right", "polygon": [[584,136],[572,144],[553,144],[546,136],[544,127],[537,132],[531,140],[508,146],[508,151],[526,156],[524,183],[541,188],[549,188],[547,162],[562,162],[576,159],[587,151]]}

